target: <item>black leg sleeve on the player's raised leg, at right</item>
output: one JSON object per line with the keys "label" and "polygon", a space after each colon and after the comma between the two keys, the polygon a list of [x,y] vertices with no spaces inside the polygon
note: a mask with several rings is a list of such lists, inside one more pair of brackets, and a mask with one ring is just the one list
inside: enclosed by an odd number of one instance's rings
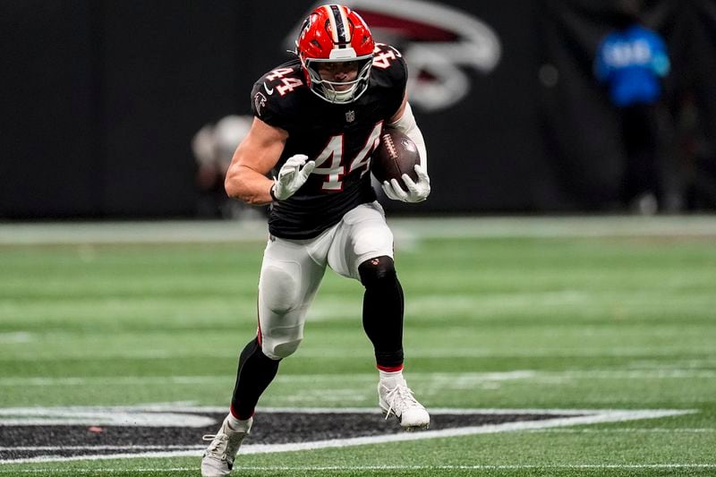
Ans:
{"label": "black leg sleeve on the player's raised leg, at right", "polygon": [[358,272],[365,286],[363,329],[371,339],[379,366],[403,364],[403,288],[390,257],[364,261]]}

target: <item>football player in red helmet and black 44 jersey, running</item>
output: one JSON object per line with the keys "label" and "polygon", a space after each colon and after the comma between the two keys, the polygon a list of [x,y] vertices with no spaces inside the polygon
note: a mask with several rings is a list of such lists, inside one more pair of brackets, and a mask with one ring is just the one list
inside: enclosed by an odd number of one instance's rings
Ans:
{"label": "football player in red helmet and black 44 jersey, running", "polygon": [[[363,328],[375,350],[379,406],[407,429],[430,416],[403,377],[403,290],[393,234],[371,187],[371,152],[391,126],[417,145],[417,181],[382,184],[388,198],[430,194],[427,154],[405,95],[401,54],[376,44],[362,18],[340,4],[316,8],[296,39],[296,58],[251,91],[251,130],[226,174],[229,196],[270,203],[259,279],[259,328],[239,357],[230,412],[201,461],[205,477],[228,475],[261,393],[303,338],[326,267],[365,287]],[[273,178],[268,178],[272,175]]]}

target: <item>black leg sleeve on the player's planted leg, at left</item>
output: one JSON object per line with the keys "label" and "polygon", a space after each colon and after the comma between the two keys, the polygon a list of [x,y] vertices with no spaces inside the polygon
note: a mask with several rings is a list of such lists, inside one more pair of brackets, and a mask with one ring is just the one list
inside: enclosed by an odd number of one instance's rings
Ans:
{"label": "black leg sleeve on the player's planted leg, at left", "polygon": [[249,419],[253,415],[259,397],[276,377],[279,362],[261,351],[259,338],[252,339],[243,348],[231,398],[231,408],[237,418]]}

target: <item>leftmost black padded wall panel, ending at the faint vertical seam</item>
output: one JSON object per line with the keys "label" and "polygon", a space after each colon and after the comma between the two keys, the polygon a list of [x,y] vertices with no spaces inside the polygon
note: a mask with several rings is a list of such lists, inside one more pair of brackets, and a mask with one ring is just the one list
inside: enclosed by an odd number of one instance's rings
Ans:
{"label": "leftmost black padded wall panel, ending at the faint vertical seam", "polygon": [[92,2],[3,2],[0,215],[101,208]]}

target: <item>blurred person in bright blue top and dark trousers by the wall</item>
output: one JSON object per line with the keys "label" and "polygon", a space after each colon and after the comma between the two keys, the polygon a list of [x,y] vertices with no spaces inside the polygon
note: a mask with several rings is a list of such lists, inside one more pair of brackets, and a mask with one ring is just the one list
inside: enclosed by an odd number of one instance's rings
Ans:
{"label": "blurred person in bright blue top and dark trousers by the wall", "polygon": [[[639,0],[619,3],[614,30],[597,47],[594,75],[608,87],[620,114],[626,151],[620,200],[636,212],[652,214],[665,196],[673,201],[664,170],[669,168],[670,132],[660,106],[661,80],[670,62],[659,33],[640,24],[641,6]],[[666,209],[674,209],[673,204]]]}

